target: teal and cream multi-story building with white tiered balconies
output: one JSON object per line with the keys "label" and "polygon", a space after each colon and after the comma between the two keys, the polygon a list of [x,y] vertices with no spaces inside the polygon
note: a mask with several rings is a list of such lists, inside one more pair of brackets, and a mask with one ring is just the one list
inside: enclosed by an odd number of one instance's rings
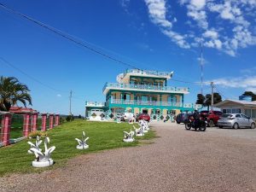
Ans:
{"label": "teal and cream multi-story building with white tiered balconies", "polygon": [[[102,109],[110,118],[117,113],[148,113],[153,119],[165,119],[170,114],[181,111],[192,111],[195,106],[184,104],[184,95],[189,88],[167,86],[167,80],[173,73],[126,70],[117,76],[116,83],[106,83],[103,94],[105,103],[86,102],[86,117],[90,117],[91,109]],[[95,114],[94,114],[95,115]]]}

